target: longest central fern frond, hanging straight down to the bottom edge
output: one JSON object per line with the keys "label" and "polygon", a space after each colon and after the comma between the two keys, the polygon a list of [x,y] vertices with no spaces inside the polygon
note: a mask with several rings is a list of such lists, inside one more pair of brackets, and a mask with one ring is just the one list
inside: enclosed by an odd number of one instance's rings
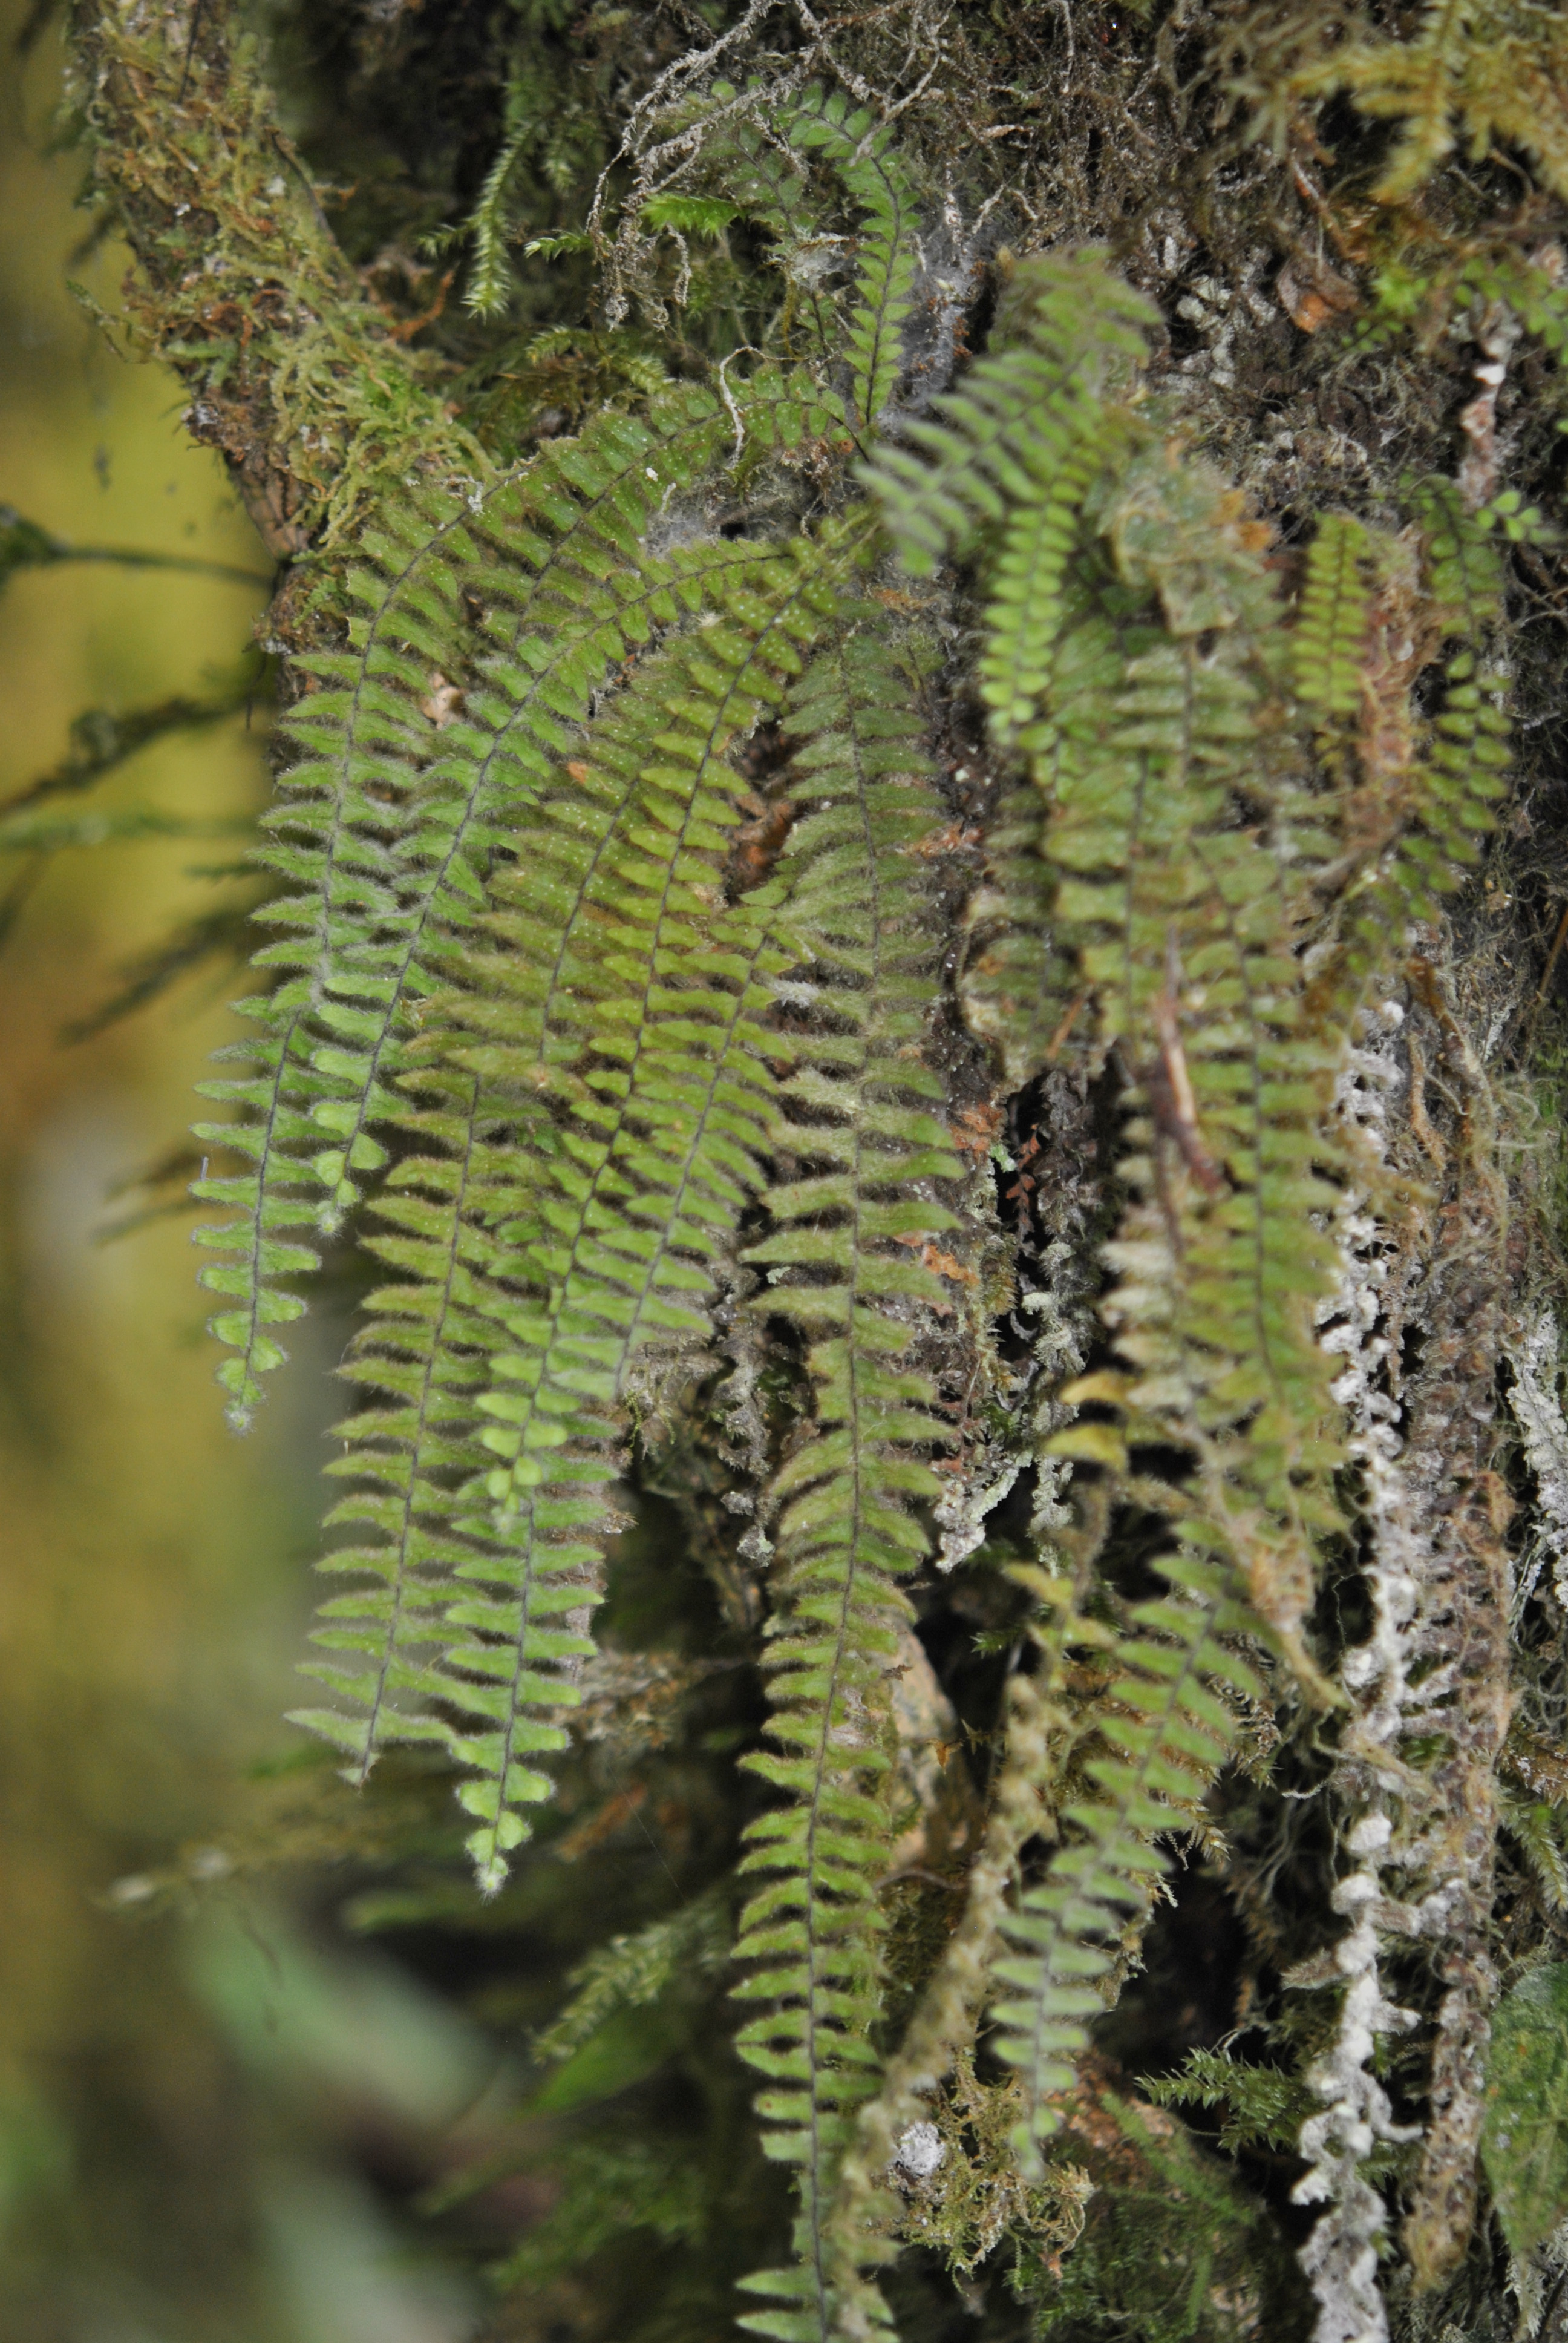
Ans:
{"label": "longest central fern frond, hanging straight down to the bottom edge", "polygon": [[935,1385],[909,1352],[952,1307],[926,1265],[952,1214],[930,1183],[954,1179],[940,1078],[923,1064],[935,1005],[928,888],[916,848],[935,794],[909,684],[872,630],[825,649],[792,698],[790,792],[804,808],[780,879],[797,972],[778,989],[771,1047],[792,1071],[773,1148],[792,1176],[766,1190],[773,1235],[752,1246],[757,1303],[809,1343],[816,1436],[773,1478],[783,1600],[773,1624],[780,1755],[745,1760],[785,1804],[752,1830],[745,1870],[766,1886],[743,1914],[748,1999],[769,2003],[738,2048],[771,2083],[769,2156],[799,2184],[792,2270],[750,2280],[778,2308],[743,2324],[827,2343],[837,2320],[879,2324],[853,2263],[834,2266],[827,2205],[853,2111],[874,2090],[877,1877],[891,1839],[886,1671],[907,1617],[898,1579],[928,1549],[912,1504],[940,1492],[930,1450],[949,1434]]}

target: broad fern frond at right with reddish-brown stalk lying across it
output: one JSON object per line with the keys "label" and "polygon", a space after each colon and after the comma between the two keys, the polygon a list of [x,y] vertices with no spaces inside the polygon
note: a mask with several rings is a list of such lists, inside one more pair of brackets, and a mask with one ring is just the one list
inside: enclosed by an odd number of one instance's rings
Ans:
{"label": "broad fern frond at right with reddish-brown stalk lying across it", "polygon": [[1341,1043],[1303,1029],[1301,855],[1280,858],[1233,811],[1252,799],[1282,827],[1298,804],[1280,771],[1277,604],[1238,499],[1165,448],[1130,471],[1106,537],[1163,628],[1148,642],[1088,619],[1080,656],[1064,644],[1052,719],[1066,745],[1041,776],[1057,933],[1146,1106],[1123,1160],[1139,1202],[1109,1249],[1125,1282],[1104,1310],[1132,1375],[1095,1396],[1120,1396],[1139,1439],[1198,1460],[1205,1532],[1310,1678],[1301,1621],[1315,1544],[1338,1518],[1313,1333],[1331,1251],[1313,1223],[1334,1197],[1317,1164]]}

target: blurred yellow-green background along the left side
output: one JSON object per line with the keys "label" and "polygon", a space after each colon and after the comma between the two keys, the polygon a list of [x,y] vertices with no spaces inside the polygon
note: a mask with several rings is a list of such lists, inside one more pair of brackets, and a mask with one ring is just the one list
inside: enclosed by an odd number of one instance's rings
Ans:
{"label": "blurred yellow-green background along the left side", "polygon": [[[127,258],[82,251],[82,164],[49,152],[59,37],[23,70],[23,14],[0,5],[0,504],[75,544],[265,574],[218,459],[180,429],[178,384],[117,356],[66,291],[77,279],[113,312]],[[59,766],[84,710],[211,691],[263,602],[202,574],[14,574],[0,801]],[[298,1328],[237,1441],[190,1216],[101,1242],[148,1195],[178,1197],[180,1179],[115,1190],[185,1143],[192,1082],[232,1031],[232,963],[63,1038],[127,963],[234,900],[202,865],[232,862],[225,822],[265,790],[265,719],[255,705],[164,738],[54,801],[157,808],[209,836],[0,855],[5,2343],[448,2343],[473,2327],[398,2205],[464,2120],[483,2146],[492,2052],[234,1853],[270,1776],[295,1795],[279,1715],[298,1699],[321,1368],[342,1328],[330,1307]]]}

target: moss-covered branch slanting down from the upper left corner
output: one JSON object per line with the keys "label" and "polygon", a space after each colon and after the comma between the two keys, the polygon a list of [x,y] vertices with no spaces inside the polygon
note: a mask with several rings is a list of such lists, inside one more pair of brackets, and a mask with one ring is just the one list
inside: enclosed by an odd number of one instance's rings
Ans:
{"label": "moss-covered branch slanting down from the upper left corner", "polygon": [[[185,424],[230,464],[267,551],[342,565],[410,480],[485,478],[441,368],[338,248],[255,40],[218,7],[84,0],[73,56],[94,190],[138,262],[124,291],[136,347],[190,391]],[[300,623],[274,614],[291,647]]]}

